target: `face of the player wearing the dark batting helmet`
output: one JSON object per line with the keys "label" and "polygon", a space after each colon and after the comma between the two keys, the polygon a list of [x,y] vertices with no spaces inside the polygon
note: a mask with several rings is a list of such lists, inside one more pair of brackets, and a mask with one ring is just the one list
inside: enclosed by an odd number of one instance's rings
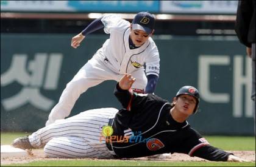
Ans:
{"label": "face of the player wearing the dark batting helmet", "polygon": [[184,115],[193,114],[194,107],[196,107],[196,98],[191,95],[180,95],[176,98],[175,107]]}

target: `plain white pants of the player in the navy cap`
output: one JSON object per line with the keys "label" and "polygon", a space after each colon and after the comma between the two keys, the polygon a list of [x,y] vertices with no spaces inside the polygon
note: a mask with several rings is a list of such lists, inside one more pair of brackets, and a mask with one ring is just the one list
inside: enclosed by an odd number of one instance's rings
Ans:
{"label": "plain white pants of the player in the navy cap", "polygon": [[[133,83],[133,88],[145,89],[148,82],[144,69],[137,70],[132,73],[137,80]],[[68,117],[74,107],[80,94],[84,93],[88,88],[96,86],[103,81],[115,80],[119,81],[123,74],[116,73],[113,70],[112,64],[104,61],[104,56],[97,52],[91,60],[89,60],[74,78],[66,84],[57,103],[49,114],[46,126],[54,123],[55,120]],[[113,86],[114,87],[114,86]]]}

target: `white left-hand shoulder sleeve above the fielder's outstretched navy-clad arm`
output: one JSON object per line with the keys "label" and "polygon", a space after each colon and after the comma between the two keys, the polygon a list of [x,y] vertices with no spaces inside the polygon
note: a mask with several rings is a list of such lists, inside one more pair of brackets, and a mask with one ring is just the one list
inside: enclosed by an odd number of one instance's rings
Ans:
{"label": "white left-hand shoulder sleeve above the fielder's outstretched navy-clad arm", "polygon": [[104,24],[104,32],[107,34],[112,33],[116,27],[127,27],[130,24],[129,21],[111,14],[104,15],[101,21]]}

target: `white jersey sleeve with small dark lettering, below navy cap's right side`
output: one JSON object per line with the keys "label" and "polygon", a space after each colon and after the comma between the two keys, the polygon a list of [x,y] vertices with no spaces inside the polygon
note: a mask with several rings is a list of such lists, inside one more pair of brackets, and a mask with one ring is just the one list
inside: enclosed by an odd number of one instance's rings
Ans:
{"label": "white jersey sleeve with small dark lettering, below navy cap's right side", "polygon": [[152,43],[154,47],[152,47],[151,52],[146,58],[146,75],[157,75],[159,77],[160,73],[160,58],[157,46]]}

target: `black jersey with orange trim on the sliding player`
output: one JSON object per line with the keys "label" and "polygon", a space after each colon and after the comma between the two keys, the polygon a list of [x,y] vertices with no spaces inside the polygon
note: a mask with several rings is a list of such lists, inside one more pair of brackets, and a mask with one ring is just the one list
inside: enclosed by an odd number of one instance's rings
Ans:
{"label": "black jersey with orange trim on the sliding player", "polygon": [[119,158],[179,152],[226,161],[230,155],[210,146],[187,121],[175,121],[170,114],[171,104],[157,95],[122,90],[118,84],[115,95],[124,107],[113,120],[110,140]]}

